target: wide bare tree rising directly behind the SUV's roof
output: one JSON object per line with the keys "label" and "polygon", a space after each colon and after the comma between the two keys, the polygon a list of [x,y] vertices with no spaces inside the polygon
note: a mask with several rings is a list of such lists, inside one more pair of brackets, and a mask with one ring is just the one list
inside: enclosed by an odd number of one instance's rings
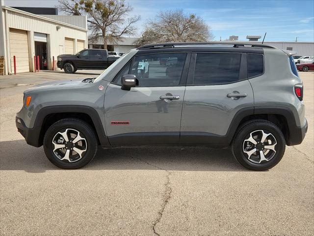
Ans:
{"label": "wide bare tree rising directly behind the SUV's roof", "polygon": [[213,34],[204,20],[182,9],[160,12],[150,20],[135,43],[138,45],[165,42],[202,42],[212,40]]}

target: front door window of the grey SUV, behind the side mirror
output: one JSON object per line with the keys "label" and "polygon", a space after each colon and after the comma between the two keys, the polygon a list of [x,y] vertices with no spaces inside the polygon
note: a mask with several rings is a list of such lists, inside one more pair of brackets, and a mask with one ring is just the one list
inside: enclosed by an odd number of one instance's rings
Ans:
{"label": "front door window of the grey SUV, behind the side mirror", "polygon": [[138,87],[178,86],[185,58],[186,53],[137,56],[132,61],[130,74],[136,76]]}

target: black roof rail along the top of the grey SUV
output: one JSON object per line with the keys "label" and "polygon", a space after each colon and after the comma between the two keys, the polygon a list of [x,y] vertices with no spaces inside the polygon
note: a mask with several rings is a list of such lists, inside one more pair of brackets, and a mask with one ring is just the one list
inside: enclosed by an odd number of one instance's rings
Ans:
{"label": "black roof rail along the top of the grey SUV", "polygon": [[189,46],[189,45],[230,45],[233,47],[246,47],[246,46],[251,46],[251,47],[260,47],[260,48],[276,48],[267,44],[262,44],[262,43],[251,43],[251,42],[240,42],[240,41],[214,41],[214,42],[182,42],[182,43],[156,43],[156,44],[148,44],[144,45],[141,47],[138,47],[138,50],[146,50],[146,49],[160,49],[160,48],[175,48],[175,47],[180,47],[180,46]]}

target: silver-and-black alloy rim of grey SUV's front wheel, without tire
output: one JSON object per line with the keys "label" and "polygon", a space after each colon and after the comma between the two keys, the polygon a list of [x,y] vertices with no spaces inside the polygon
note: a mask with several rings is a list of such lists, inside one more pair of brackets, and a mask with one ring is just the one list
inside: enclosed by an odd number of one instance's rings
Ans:
{"label": "silver-and-black alloy rim of grey SUV's front wheel, without tire", "polygon": [[84,157],[87,141],[83,134],[76,129],[63,129],[52,139],[54,155],[64,162],[76,162]]}

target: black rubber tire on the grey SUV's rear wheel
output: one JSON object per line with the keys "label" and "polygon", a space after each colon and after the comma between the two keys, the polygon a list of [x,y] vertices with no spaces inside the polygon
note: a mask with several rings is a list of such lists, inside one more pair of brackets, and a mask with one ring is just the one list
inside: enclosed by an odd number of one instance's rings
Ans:
{"label": "black rubber tire on the grey SUV's rear wheel", "polygon": [[[259,145],[258,148],[260,148],[257,150],[261,151],[261,149],[262,150],[265,149],[264,151],[269,151],[268,152],[269,157],[273,155],[271,158],[269,158],[268,161],[264,160],[260,164],[254,163],[252,162],[252,160],[249,160],[248,154],[244,153],[244,146],[245,146],[244,141],[250,137],[251,133],[259,132],[259,130],[262,130],[264,133],[267,133],[267,134],[268,133],[272,134],[272,136],[269,135],[269,137],[274,137],[275,138],[274,143],[276,142],[276,145],[274,146],[276,150],[275,153],[272,152],[272,150],[266,150],[268,148],[262,149],[261,147],[264,147],[264,146],[261,146],[263,145],[262,143],[257,144],[257,146]],[[255,149],[253,146],[254,144],[252,144],[252,149]],[[253,171],[266,171],[276,166],[280,162],[286,150],[286,141],[285,141],[285,137],[283,133],[275,124],[266,120],[256,119],[256,120],[248,121],[238,128],[235,134],[234,140],[232,142],[231,148],[232,148],[232,152],[234,154],[235,159],[245,168],[253,170]],[[254,153],[257,154],[259,152],[254,152]],[[265,153],[265,157],[266,157],[266,154],[267,153]],[[257,154],[257,156],[259,156],[259,154]],[[260,156],[260,160],[262,160],[261,156]]]}

